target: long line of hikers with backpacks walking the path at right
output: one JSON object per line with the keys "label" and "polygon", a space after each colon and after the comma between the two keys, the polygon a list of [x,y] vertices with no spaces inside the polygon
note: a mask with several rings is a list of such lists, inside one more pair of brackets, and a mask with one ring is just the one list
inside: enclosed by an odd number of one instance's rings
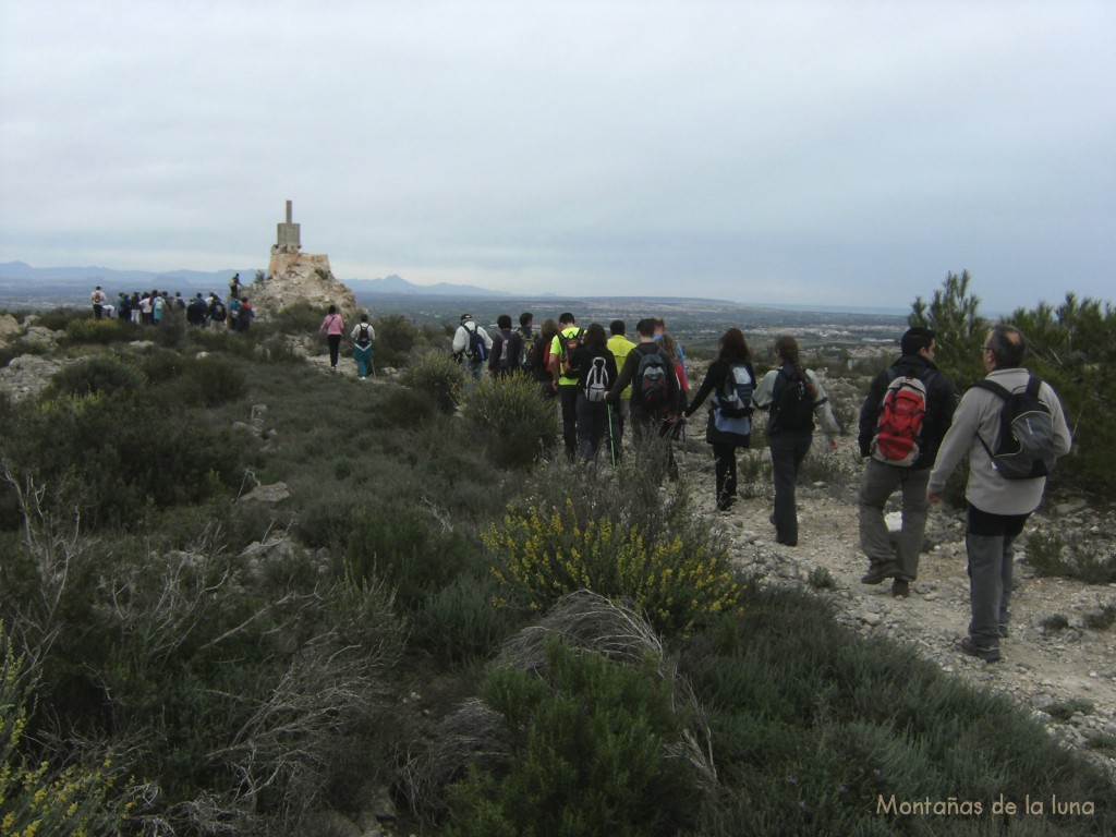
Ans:
{"label": "long line of hikers with backpacks walking the path at right", "polygon": [[[798,545],[795,485],[815,429],[837,450],[841,432],[818,375],[804,366],[796,339],[775,341],[775,364],[758,379],[739,328],[720,338],[716,358],[693,397],[682,346],[658,318],[639,320],[636,341],[623,320],[583,329],[570,312],[548,319],[536,334],[533,316],[497,320],[490,337],[462,315],[452,352],[480,377],[528,374],[542,397],[557,398],[567,458],[594,462],[607,445],[615,464],[620,440],[632,427],[634,450],[654,448],[676,478],[670,440],[709,405],[705,441],[714,458],[715,502],[720,511],[738,500],[737,452],[750,445],[752,416],[767,413],[764,434],[775,483],[770,517],[776,541]],[[1046,382],[1023,367],[1027,341],[1007,324],[992,327],[981,346],[987,377],[959,398],[949,376],[934,363],[935,336],[912,327],[901,339],[899,357],[872,382],[860,408],[857,442],[866,464],[858,489],[860,548],[867,585],[892,581],[905,598],[917,578],[930,504],[951,473],[969,460],[965,490],[965,546],[972,619],[960,650],[987,662],[1000,658],[1008,636],[1016,538],[1041,502],[1046,477],[1071,437],[1061,403]],[[663,443],[665,442],[665,443]],[[656,454],[656,455],[660,455]],[[892,538],[885,507],[902,498],[902,528]]]}

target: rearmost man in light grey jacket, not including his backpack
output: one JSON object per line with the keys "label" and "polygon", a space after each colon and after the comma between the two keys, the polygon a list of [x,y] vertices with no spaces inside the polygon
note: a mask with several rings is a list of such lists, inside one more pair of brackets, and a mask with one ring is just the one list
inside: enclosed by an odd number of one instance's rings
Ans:
{"label": "rearmost man in light grey jacket, not including his backpack", "polygon": [[[1027,387],[1030,374],[1022,366],[1027,343],[1018,328],[994,326],[981,352],[989,373],[985,381],[1012,393]],[[1061,402],[1047,383],[1042,383],[1038,397],[1050,411],[1055,453],[1061,456],[1069,452],[1071,443]],[[999,444],[1003,404],[999,395],[979,386],[965,392],[942,440],[927,485],[930,501],[936,502],[953,469],[969,456],[965,551],[972,620],[961,650],[989,663],[1000,658],[1000,638],[1008,635],[1012,545],[1046,489],[1046,477],[1006,479],[993,466],[989,451]]]}

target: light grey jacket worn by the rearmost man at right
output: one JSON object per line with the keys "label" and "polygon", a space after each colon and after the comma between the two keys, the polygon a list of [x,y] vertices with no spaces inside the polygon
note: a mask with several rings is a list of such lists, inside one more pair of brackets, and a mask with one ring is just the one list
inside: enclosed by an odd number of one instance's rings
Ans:
{"label": "light grey jacket worn by the rearmost man at right", "polygon": [[[1021,391],[1027,386],[1028,372],[1023,368],[993,369],[987,376],[1008,392]],[[1072,442],[1061,401],[1057,393],[1042,382],[1039,389],[1039,401],[1050,408],[1054,420],[1055,445],[1059,456],[1069,453]],[[995,450],[1000,441],[1000,411],[1003,400],[995,393],[979,387],[972,387],[961,396],[953,413],[953,423],[942,440],[934,461],[934,470],[930,474],[927,491],[931,494],[942,493],[945,481],[950,479],[953,469],[965,455],[969,456],[969,483],[965,487],[965,499],[981,511],[990,514],[1029,514],[1042,501],[1046,489],[1046,478],[1033,480],[1006,480],[992,468],[988,451],[980,443]],[[977,437],[978,433],[980,439]]]}

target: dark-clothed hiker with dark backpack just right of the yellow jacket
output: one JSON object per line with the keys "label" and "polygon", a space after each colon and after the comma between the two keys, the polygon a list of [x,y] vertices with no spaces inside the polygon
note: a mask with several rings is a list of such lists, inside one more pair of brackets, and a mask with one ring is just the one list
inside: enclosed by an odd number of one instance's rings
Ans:
{"label": "dark-clothed hiker with dark backpack just right of the yellow jacket", "polygon": [[652,444],[665,448],[666,472],[676,480],[679,472],[674,462],[674,449],[666,436],[673,432],[679,420],[679,379],[674,375],[672,358],[667,358],[662,347],[655,343],[655,321],[642,319],[635,327],[635,347],[624,359],[620,374],[608,393],[608,403],[615,410],[620,393],[632,385],[631,414],[632,441],[646,450]]}

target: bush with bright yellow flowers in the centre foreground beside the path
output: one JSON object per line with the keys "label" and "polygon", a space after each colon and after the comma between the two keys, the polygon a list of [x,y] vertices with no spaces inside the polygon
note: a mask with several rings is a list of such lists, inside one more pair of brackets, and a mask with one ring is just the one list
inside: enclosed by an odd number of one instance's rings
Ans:
{"label": "bush with bright yellow flowers in the centre foreground beside the path", "polygon": [[680,535],[648,538],[639,526],[580,513],[573,499],[509,509],[483,540],[498,557],[496,577],[523,591],[532,608],[589,589],[629,600],[656,629],[682,635],[740,610],[740,589],[723,551]]}

